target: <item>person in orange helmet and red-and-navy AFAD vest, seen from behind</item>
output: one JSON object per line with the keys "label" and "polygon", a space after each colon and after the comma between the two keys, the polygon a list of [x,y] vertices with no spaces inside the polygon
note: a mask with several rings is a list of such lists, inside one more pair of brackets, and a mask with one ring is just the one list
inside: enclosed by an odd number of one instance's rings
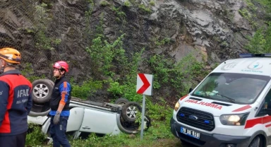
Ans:
{"label": "person in orange helmet and red-and-navy AFAD vest, seen from behind", "polygon": [[24,147],[28,114],[32,108],[32,84],[21,75],[20,52],[0,49],[0,146]]}

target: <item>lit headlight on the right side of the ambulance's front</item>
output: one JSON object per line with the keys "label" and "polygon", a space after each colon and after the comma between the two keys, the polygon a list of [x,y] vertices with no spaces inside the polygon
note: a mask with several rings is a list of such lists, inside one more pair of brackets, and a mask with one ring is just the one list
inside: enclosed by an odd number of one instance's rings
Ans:
{"label": "lit headlight on the right side of the ambulance's front", "polygon": [[219,119],[221,124],[229,126],[243,126],[249,113],[243,114],[222,114]]}

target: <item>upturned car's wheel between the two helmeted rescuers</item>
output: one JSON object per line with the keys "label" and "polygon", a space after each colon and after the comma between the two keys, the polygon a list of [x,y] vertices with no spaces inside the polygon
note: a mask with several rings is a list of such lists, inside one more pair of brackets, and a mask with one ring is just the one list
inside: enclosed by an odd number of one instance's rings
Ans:
{"label": "upturned car's wheel between the two helmeted rescuers", "polygon": [[32,82],[32,100],[34,102],[48,102],[52,95],[53,86],[47,79],[38,79]]}

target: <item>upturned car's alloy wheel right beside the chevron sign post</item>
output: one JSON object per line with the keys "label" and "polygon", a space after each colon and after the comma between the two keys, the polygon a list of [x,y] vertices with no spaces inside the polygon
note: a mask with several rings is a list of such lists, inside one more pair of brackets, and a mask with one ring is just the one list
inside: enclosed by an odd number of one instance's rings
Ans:
{"label": "upturned car's alloy wheel right beside the chevron sign post", "polygon": [[142,108],[137,102],[127,102],[122,106],[121,117],[127,122],[135,122],[136,114],[141,112]]}

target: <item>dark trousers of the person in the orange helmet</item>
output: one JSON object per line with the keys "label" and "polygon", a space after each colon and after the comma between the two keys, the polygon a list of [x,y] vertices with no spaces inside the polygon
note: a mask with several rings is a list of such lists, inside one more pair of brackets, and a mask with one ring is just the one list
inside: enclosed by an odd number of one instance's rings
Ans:
{"label": "dark trousers of the person in the orange helmet", "polygon": [[3,147],[25,147],[25,139],[26,134],[18,134],[18,135],[11,135],[11,136],[0,136],[0,146]]}

